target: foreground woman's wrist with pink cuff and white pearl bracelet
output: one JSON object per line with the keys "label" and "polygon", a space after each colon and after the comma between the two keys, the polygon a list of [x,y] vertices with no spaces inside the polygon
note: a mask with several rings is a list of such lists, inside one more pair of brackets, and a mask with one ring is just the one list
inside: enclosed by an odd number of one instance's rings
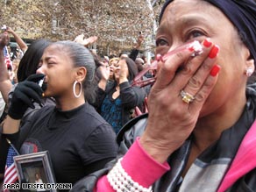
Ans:
{"label": "foreground woman's wrist with pink cuff and white pearl bracelet", "polygon": [[111,169],[107,179],[113,188],[119,186],[130,188],[129,191],[134,191],[131,190],[132,188],[138,188],[136,191],[151,191],[150,186],[169,169],[167,162],[160,164],[153,160],[145,152],[137,138],[129,151],[125,153],[124,158],[119,159],[116,166]]}

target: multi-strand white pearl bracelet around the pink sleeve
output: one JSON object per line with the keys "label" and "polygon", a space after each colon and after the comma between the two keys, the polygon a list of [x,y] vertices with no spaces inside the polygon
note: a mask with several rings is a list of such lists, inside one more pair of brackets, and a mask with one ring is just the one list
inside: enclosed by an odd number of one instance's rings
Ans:
{"label": "multi-strand white pearl bracelet around the pink sleeve", "polygon": [[152,192],[152,187],[144,188],[138,182],[132,180],[132,177],[124,171],[120,158],[117,164],[107,174],[110,186],[117,192]]}

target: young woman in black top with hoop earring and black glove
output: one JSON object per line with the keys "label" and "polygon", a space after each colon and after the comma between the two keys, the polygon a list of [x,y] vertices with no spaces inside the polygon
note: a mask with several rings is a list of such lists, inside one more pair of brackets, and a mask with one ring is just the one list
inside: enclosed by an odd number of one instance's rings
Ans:
{"label": "young woman in black top with hoop earring and black glove", "polygon": [[[2,138],[11,139],[20,153],[48,151],[60,183],[75,183],[117,154],[115,132],[87,102],[94,71],[87,48],[56,42],[46,47],[37,75],[18,83],[11,98]],[[42,78],[44,91],[38,83]],[[56,106],[38,110],[19,130],[25,110],[42,96],[53,96]]]}

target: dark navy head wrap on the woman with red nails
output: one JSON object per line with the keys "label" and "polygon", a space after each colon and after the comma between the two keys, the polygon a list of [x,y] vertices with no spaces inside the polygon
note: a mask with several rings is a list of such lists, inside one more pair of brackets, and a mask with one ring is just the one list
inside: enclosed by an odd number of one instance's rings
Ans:
{"label": "dark navy head wrap on the woman with red nails", "polygon": [[[248,47],[256,63],[256,1],[255,0],[205,0],[223,11]],[[167,5],[173,0],[167,0],[160,11],[160,20]]]}

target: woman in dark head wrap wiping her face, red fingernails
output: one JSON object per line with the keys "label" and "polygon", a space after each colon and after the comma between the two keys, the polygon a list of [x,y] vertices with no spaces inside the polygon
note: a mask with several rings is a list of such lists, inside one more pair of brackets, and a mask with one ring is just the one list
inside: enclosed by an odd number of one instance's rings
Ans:
{"label": "woman in dark head wrap wiping her face, red fingernails", "polygon": [[255,22],[253,0],[167,1],[148,117],[124,127],[95,191],[256,191]]}

